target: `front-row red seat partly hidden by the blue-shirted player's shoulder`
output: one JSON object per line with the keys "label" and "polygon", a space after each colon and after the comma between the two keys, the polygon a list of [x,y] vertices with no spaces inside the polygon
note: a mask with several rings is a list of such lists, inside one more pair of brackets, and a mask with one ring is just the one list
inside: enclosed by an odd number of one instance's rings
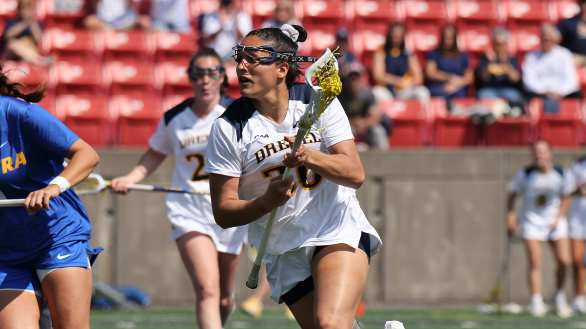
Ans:
{"label": "front-row red seat partly hidden by the blue-shirted player's shoulder", "polygon": [[111,121],[107,101],[92,95],[62,95],[57,111],[64,124],[90,145],[111,143]]}

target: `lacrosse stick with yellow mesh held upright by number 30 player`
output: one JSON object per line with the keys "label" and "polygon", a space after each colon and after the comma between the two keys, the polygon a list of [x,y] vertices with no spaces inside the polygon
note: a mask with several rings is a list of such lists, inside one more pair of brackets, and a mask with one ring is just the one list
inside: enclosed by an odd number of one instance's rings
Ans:
{"label": "lacrosse stick with yellow mesh held upright by number 30 player", "polygon": [[[319,85],[314,85],[313,80],[316,78]],[[311,102],[305,108],[305,113],[299,119],[299,130],[295,136],[295,142],[291,148],[291,154],[297,152],[299,146],[303,142],[305,136],[309,133],[311,126],[318,121],[318,118],[323,115],[323,111],[342,91],[342,82],[338,76],[338,60],[332,52],[326,49],[323,54],[314,64],[312,64],[305,72],[305,84],[311,87]],[[283,174],[283,179],[291,175],[291,168],[287,167]],[[272,227],[275,224],[277,213],[281,207],[272,210],[268,219],[267,228],[264,231],[263,240],[258,247],[256,260],[254,261],[253,269],[248,276],[246,286],[250,289],[256,289],[258,285],[258,273],[260,272],[261,263],[263,263],[264,253],[267,251],[268,239],[271,236]]]}

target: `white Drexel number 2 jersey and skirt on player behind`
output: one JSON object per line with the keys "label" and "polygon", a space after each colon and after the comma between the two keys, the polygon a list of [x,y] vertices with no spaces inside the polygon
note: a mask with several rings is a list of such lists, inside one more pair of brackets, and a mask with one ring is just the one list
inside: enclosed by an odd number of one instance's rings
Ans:
{"label": "white Drexel number 2 jersey and skirt on player behind", "polygon": [[[195,98],[189,98],[165,112],[149,145],[156,152],[175,155],[173,187],[209,193],[209,174],[203,170],[207,139],[212,123],[233,99],[222,96],[220,104],[204,119],[193,113],[191,105],[194,101]],[[203,224],[216,224],[209,194],[168,193],[166,205],[169,218],[193,218],[195,215]]]}

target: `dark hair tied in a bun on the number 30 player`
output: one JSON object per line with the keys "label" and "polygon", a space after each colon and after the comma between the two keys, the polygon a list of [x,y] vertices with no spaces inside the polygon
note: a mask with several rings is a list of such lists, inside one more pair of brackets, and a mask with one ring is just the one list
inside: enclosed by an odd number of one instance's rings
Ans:
{"label": "dark hair tied in a bun on the number 30 player", "polygon": [[[307,31],[302,26],[292,26],[299,32],[297,42],[304,42],[305,40],[307,40]],[[281,31],[281,29],[264,28],[253,30],[249,32],[246,36],[257,36],[259,39],[263,40],[267,44],[270,44],[271,46],[275,47],[275,49],[277,49],[277,51],[280,53],[297,53],[297,42],[294,42],[291,39],[291,37],[285,35],[285,33]],[[282,60],[277,61],[281,63],[283,62]],[[289,61],[288,63],[289,71],[287,71],[285,83],[287,84],[287,87],[291,87],[295,83],[295,81],[297,81],[297,78],[299,77],[299,74],[301,74],[301,71],[299,70],[299,66],[296,62]]]}

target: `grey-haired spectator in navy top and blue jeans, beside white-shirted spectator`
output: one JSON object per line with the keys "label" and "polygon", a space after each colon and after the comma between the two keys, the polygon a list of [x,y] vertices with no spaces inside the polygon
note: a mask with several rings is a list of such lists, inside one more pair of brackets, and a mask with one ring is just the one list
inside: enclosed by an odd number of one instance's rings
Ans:
{"label": "grey-haired spectator in navy top and blue jeans, beside white-shirted spectator", "polygon": [[478,64],[478,98],[501,97],[514,105],[523,105],[523,94],[517,87],[521,80],[519,63],[509,55],[509,32],[497,28],[492,32],[493,48],[486,49]]}

